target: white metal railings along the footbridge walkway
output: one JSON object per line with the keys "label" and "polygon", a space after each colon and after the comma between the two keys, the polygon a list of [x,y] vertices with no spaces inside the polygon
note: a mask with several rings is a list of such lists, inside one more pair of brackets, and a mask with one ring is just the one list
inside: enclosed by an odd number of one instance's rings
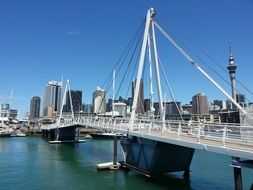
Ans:
{"label": "white metal railings along the footbridge walkway", "polygon": [[217,124],[169,120],[165,122],[162,129],[161,120],[136,119],[130,126],[129,118],[111,117],[75,117],[65,118],[60,123],[43,125],[42,129],[62,128],[71,125],[81,125],[98,129],[110,129],[127,133],[137,131],[139,133],[160,136],[164,138],[175,138],[196,143],[212,143],[217,146],[241,146],[246,145],[253,151],[253,126],[240,126],[236,124]]}

